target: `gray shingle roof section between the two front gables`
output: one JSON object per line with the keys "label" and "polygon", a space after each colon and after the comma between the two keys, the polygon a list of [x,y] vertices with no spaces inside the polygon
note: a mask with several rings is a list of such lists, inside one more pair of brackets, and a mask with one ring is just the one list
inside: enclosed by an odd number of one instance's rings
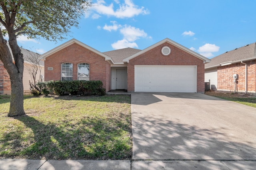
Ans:
{"label": "gray shingle roof section between the two front gables", "polygon": [[115,63],[122,63],[125,58],[130,57],[131,55],[134,55],[139,51],[141,50],[133,49],[133,48],[125,48],[125,49],[107,51],[107,52],[104,52],[104,54],[111,57]]}

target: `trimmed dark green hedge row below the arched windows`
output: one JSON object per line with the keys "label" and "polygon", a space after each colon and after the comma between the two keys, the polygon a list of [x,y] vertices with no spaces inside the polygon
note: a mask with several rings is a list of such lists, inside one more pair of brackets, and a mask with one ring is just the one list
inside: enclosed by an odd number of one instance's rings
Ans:
{"label": "trimmed dark green hedge row below the arched windows", "polygon": [[37,86],[40,94],[45,94],[46,96],[50,92],[58,96],[62,96],[65,92],[69,94],[76,95],[78,92],[83,94],[93,94],[93,95],[105,95],[106,89],[102,88],[103,83],[98,81],[86,81],[86,80],[73,80],[73,81],[48,81],[48,82],[38,82]]}

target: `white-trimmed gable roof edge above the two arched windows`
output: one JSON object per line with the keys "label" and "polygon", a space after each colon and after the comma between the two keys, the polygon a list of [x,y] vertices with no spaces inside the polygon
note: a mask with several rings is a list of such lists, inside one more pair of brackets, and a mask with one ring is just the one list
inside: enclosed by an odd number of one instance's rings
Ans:
{"label": "white-trimmed gable roof edge above the two arched windows", "polygon": [[58,47],[55,47],[54,49],[52,49],[52,50],[42,54],[42,59],[45,60],[46,57],[48,57],[48,56],[50,56],[50,55],[52,55],[52,54],[54,54],[54,53],[56,53],[56,52],[58,52],[58,51],[60,51],[60,50],[62,50],[64,48],[66,48],[66,47],[68,47],[68,46],[70,46],[70,45],[72,45],[74,43],[76,43],[76,44],[78,44],[78,45],[80,45],[80,46],[82,46],[82,47],[84,47],[84,48],[86,48],[86,49],[88,49],[88,50],[90,50],[90,51],[100,55],[101,57],[104,57],[106,61],[111,61],[112,63],[114,63],[114,61],[108,55],[105,55],[105,54],[101,53],[100,51],[98,51],[98,50],[96,50],[96,49],[94,49],[94,48],[92,48],[92,47],[90,47],[90,46],[88,46],[88,45],[86,45],[86,44],[84,44],[84,43],[74,39],[74,38],[69,40],[69,41],[67,41],[66,43],[63,43],[62,45],[59,45]]}

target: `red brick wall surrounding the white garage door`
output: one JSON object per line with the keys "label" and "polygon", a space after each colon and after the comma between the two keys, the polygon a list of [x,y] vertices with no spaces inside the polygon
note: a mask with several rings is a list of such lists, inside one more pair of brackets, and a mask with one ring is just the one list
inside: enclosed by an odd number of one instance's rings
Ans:
{"label": "red brick wall surrounding the white garage door", "polygon": [[[170,55],[162,55],[161,49],[164,46],[170,47]],[[197,92],[204,92],[204,62],[169,43],[163,43],[129,61],[127,66],[128,92],[134,91],[134,65],[196,65]]]}

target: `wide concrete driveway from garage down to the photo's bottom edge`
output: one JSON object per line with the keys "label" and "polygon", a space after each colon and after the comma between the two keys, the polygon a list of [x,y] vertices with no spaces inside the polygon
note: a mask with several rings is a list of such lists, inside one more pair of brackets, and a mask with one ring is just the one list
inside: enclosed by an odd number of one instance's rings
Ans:
{"label": "wide concrete driveway from garage down to the photo's bottom edge", "polygon": [[132,93],[132,169],[255,169],[256,108],[196,93]]}

